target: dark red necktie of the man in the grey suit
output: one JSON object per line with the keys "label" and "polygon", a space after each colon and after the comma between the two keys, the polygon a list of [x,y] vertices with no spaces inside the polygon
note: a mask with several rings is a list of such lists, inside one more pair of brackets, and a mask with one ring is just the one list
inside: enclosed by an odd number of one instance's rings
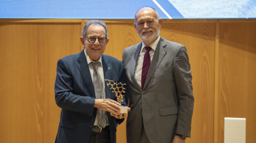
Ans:
{"label": "dark red necktie of the man in the grey suit", "polygon": [[146,53],[144,55],[144,59],[143,59],[143,67],[142,67],[142,90],[144,88],[145,85],[145,81],[146,81],[146,76],[148,75],[148,69],[150,66],[150,55],[149,55],[149,51],[151,50],[151,47],[146,46]]}

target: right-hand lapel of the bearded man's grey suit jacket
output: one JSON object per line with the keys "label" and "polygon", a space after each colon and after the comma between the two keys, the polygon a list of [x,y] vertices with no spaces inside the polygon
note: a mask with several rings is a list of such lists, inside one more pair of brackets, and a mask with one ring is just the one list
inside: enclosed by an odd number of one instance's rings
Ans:
{"label": "right-hand lapel of the bearded man's grey suit jacket", "polygon": [[148,75],[146,76],[146,81],[145,81],[144,87],[146,87],[146,85],[149,82],[149,79],[151,79],[153,73],[155,72],[158,65],[160,64],[160,62],[164,58],[164,55],[166,55],[166,49],[164,48],[166,45],[167,44],[164,42],[164,39],[160,37],[160,40],[157,44],[157,48],[155,49],[153,59],[151,61],[151,65],[150,65],[149,70],[148,70]]}

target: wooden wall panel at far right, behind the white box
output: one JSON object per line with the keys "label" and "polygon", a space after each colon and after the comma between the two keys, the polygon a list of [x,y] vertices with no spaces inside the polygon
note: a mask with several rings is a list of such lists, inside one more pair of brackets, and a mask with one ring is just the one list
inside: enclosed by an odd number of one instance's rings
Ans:
{"label": "wooden wall panel at far right, behind the white box", "polygon": [[256,132],[256,23],[220,23],[219,141],[224,117],[246,118],[246,142]]}

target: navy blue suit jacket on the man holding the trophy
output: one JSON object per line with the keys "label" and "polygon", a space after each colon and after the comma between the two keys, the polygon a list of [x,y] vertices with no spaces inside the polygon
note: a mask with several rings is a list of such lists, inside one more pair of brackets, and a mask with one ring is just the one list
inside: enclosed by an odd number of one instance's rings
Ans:
{"label": "navy blue suit jacket on the man holding the trophy", "polygon": [[[116,58],[102,55],[105,79],[123,82],[123,64]],[[105,82],[106,99],[116,100]],[[89,142],[96,111],[95,90],[84,50],[58,60],[55,100],[61,108],[60,124],[55,142]],[[125,100],[125,99],[124,99]],[[124,105],[126,103],[124,102]],[[111,143],[116,142],[116,120],[107,112]]]}

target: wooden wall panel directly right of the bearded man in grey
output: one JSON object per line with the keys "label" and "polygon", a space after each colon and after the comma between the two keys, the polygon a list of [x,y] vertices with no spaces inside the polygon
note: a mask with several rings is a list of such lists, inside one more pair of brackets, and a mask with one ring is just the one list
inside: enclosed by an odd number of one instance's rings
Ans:
{"label": "wooden wall panel directly right of the bearded man in grey", "polygon": [[187,142],[213,142],[215,23],[170,22],[163,25],[160,34],[184,44],[189,54],[195,107],[192,138]]}

